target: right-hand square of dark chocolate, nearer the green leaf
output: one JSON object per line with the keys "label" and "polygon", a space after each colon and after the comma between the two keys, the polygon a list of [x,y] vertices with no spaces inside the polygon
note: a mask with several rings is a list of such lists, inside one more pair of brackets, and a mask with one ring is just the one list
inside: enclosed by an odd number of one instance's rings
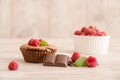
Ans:
{"label": "right-hand square of dark chocolate, nearer the green leaf", "polygon": [[67,55],[58,54],[56,56],[55,65],[59,66],[59,67],[67,67],[68,59],[69,59],[69,57]]}

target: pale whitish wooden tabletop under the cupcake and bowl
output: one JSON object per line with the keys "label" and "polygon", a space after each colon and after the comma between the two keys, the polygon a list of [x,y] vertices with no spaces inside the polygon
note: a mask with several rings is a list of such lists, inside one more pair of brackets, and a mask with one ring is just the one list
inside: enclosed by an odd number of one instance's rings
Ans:
{"label": "pale whitish wooden tabletop under the cupcake and bowl", "polygon": [[[72,39],[46,39],[58,47],[58,53],[74,51]],[[19,46],[28,39],[0,39],[0,80],[120,80],[120,40],[111,40],[107,56],[96,56],[99,66],[47,67],[25,63]],[[9,71],[10,61],[19,63],[17,71]]]}

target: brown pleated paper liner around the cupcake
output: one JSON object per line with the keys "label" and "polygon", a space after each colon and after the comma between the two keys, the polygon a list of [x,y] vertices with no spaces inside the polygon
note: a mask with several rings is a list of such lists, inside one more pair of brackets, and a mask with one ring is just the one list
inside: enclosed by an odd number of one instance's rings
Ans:
{"label": "brown pleated paper liner around the cupcake", "polygon": [[51,51],[46,50],[29,50],[26,48],[20,47],[23,58],[25,62],[30,63],[42,63],[47,54],[55,54],[57,49],[53,49]]}

